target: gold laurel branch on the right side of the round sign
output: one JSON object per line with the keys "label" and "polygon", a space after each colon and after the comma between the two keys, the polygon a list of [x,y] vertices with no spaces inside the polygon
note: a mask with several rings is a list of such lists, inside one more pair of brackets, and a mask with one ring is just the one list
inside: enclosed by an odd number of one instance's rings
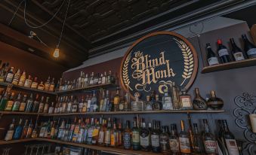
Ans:
{"label": "gold laurel branch on the right side of the round sign", "polygon": [[174,38],[177,45],[180,47],[180,50],[182,50],[182,55],[184,56],[184,72],[182,74],[182,78],[184,78],[184,81],[180,84],[182,86],[184,82],[192,76],[193,73],[193,67],[194,67],[194,58],[193,53],[191,52],[190,47],[184,42],[184,41],[178,41]]}

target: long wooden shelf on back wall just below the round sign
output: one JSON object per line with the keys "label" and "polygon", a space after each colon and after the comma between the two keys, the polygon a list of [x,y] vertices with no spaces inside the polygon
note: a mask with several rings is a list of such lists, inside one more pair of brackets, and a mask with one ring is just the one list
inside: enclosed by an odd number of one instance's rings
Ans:
{"label": "long wooden shelf on back wall just below the round sign", "polygon": [[40,116],[69,116],[69,115],[97,115],[97,114],[177,114],[177,113],[223,113],[224,110],[175,110],[175,111],[111,111],[111,112],[81,112],[66,114],[40,114]]}

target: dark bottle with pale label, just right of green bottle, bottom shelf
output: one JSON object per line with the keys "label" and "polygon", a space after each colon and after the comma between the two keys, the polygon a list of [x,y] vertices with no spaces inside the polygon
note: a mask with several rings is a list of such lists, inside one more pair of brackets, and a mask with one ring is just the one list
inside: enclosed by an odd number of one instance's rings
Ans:
{"label": "dark bottle with pale label, just right of green bottle, bottom shelf", "polygon": [[142,122],[140,130],[140,148],[141,150],[150,150],[150,130],[146,128],[146,123]]}

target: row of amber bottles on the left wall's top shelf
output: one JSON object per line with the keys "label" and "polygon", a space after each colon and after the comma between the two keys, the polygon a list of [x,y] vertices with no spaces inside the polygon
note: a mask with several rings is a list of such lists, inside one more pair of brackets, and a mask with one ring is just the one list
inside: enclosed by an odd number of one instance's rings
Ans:
{"label": "row of amber bottles on the left wall's top shelf", "polygon": [[[2,60],[0,60],[0,65],[2,63]],[[55,84],[54,84],[54,78],[48,77],[48,80],[38,82],[38,78],[35,77],[32,79],[32,76],[29,75],[27,77],[26,71],[24,70],[21,74],[20,68],[17,69],[17,71],[14,73],[14,67],[9,68],[9,63],[3,63],[2,68],[0,68],[0,82],[7,82],[10,84],[14,84],[21,87],[27,87],[37,90],[45,90],[49,92],[54,92]]]}

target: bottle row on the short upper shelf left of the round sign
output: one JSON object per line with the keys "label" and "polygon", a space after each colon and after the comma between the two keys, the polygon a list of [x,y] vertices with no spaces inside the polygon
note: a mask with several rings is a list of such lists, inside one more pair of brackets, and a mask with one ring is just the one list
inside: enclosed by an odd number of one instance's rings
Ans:
{"label": "bottle row on the short upper shelf left of the round sign", "polygon": [[57,84],[57,91],[74,90],[99,84],[115,84],[115,82],[116,78],[113,76],[112,71],[109,71],[109,74],[106,74],[106,71],[104,74],[91,72],[90,76],[88,76],[88,73],[85,74],[85,72],[81,71],[80,77],[73,81],[63,81],[60,78]]}

